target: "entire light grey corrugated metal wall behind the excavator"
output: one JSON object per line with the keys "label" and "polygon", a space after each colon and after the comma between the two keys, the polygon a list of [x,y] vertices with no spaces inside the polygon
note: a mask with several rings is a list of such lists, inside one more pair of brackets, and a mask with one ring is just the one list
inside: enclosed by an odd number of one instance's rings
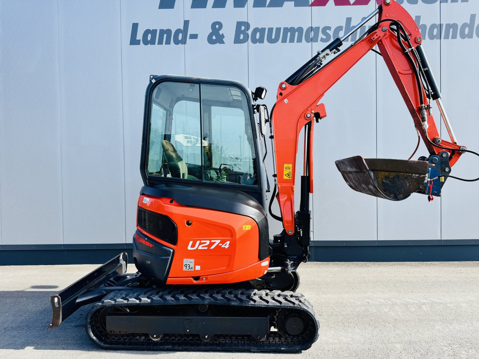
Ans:
{"label": "entire light grey corrugated metal wall behind the excavator", "polygon": [[[234,44],[237,22],[248,22],[249,34],[255,27],[309,26],[330,26],[332,34],[376,6],[374,0],[361,6],[324,0],[319,7],[271,2],[278,7],[255,7],[252,0],[244,8],[226,1],[224,9],[213,9],[212,0],[206,9],[192,9],[191,0],[176,0],[174,9],[158,9],[160,0],[1,1],[0,244],[129,242],[142,185],[140,138],[150,74],[265,86],[271,108],[278,83],[325,43],[303,37],[295,43]],[[399,2],[421,16],[424,47],[459,142],[478,150],[479,3]],[[141,39],[145,29],[174,32],[184,20],[198,39],[130,45],[133,23]],[[223,25],[225,44],[208,43],[214,22]],[[396,203],[352,191],[337,171],[336,159],[408,158],[415,147],[411,116],[381,57],[365,56],[323,100],[328,117],[316,126],[314,143],[315,240],[479,237],[478,183],[448,180],[442,199],[428,203],[412,195]],[[417,156],[422,154],[423,145]],[[465,155],[454,174],[479,177],[477,159]],[[279,228],[274,224],[272,232]]]}

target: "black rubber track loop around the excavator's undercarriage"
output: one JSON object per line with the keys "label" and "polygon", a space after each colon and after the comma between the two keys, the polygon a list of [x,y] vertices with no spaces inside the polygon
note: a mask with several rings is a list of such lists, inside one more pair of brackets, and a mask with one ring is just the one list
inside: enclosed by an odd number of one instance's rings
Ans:
{"label": "black rubber track loop around the excavator's undercarriage", "polygon": [[[215,335],[204,342],[198,335],[164,335],[153,341],[148,334],[111,335],[97,324],[101,309],[108,306],[138,305],[197,305],[217,304],[271,309],[275,314],[282,311],[302,312],[309,317],[309,325],[299,336],[282,332],[270,332],[266,339],[257,342],[249,335]],[[156,289],[144,291],[122,290],[111,292],[99,303],[94,304],[86,317],[86,331],[90,339],[105,349],[146,350],[211,350],[251,352],[291,352],[306,350],[318,339],[319,323],[311,303],[301,293],[244,289]]]}

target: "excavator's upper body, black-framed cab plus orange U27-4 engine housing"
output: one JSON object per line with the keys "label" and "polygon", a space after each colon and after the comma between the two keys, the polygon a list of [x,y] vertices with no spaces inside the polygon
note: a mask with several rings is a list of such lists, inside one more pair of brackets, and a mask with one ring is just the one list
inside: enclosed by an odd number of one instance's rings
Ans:
{"label": "excavator's upper body, black-framed cab plus orange U27-4 engine housing", "polygon": [[157,283],[264,275],[270,249],[253,95],[236,81],[150,78],[133,257]]}

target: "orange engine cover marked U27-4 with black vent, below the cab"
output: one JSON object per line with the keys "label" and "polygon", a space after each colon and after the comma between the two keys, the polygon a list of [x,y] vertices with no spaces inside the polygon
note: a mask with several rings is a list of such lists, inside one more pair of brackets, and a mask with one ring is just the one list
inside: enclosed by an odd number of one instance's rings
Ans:
{"label": "orange engine cover marked U27-4 with black vent, below the cab", "polygon": [[136,234],[140,238],[134,238],[140,272],[167,284],[234,283],[261,277],[269,258],[259,258],[256,221],[201,207],[201,196],[196,200],[198,207],[192,207],[170,197],[140,195]]}

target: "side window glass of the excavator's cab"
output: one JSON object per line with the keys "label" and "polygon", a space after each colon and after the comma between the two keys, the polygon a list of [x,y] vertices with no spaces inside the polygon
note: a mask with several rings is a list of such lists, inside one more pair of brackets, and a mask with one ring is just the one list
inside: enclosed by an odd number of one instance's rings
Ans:
{"label": "side window glass of the excavator's cab", "polygon": [[161,82],[152,94],[149,176],[257,186],[248,101],[224,85]]}

